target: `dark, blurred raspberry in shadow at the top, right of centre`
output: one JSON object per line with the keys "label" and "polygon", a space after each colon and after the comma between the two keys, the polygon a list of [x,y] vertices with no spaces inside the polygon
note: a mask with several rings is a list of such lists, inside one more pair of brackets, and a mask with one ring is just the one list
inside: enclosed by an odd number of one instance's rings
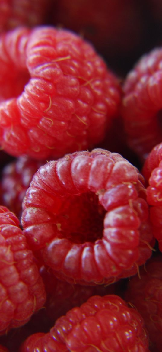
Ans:
{"label": "dark, blurred raspberry in shadow at the top, right of centre", "polygon": [[58,0],[56,5],[54,23],[82,33],[109,58],[127,56],[143,41],[145,18],[134,0]]}

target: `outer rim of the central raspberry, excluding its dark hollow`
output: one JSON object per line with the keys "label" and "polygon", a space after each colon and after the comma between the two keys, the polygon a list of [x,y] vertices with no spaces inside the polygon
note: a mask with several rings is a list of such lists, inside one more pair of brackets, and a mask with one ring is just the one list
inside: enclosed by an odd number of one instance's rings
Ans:
{"label": "outer rim of the central raspberry, excluding its dark hollow", "polygon": [[[96,179],[99,165],[97,163],[99,163],[100,159],[102,160],[102,168],[104,169],[102,181],[98,180],[98,178]],[[122,172],[121,175],[119,175],[119,170]],[[43,258],[45,264],[51,266],[54,274],[56,276],[61,275],[62,279],[64,278],[67,281],[72,279],[72,282],[74,283],[78,282],[79,280],[79,283],[85,284],[87,281],[89,283],[106,283],[108,281],[113,282],[120,274],[127,277],[129,276],[128,269],[137,272],[137,266],[142,265],[144,261],[151,255],[151,249],[148,245],[148,242],[150,242],[152,239],[150,230],[149,235],[146,235],[144,241],[142,240],[142,235],[140,237],[140,224],[147,224],[148,221],[148,206],[144,200],[145,189],[141,181],[143,182],[143,179],[141,178],[141,175],[137,169],[132,166],[126,159],[117,153],[111,153],[101,149],[95,149],[92,152],[76,152],[72,155],[66,155],[64,158],[59,159],[58,161],[49,162],[39,168],[37,173],[34,175],[30,188],[27,190],[26,196],[24,198],[22,205],[23,213],[21,218],[21,224],[24,229],[23,233],[26,235],[27,241],[29,241],[33,250],[36,252],[39,251],[40,256]],[[109,202],[108,204],[105,202],[105,190],[109,190],[109,187],[112,190],[113,187],[115,188],[119,185],[119,182],[122,184],[122,186],[124,185],[124,196],[126,197],[126,201],[125,199],[122,200],[122,205],[121,203],[118,205],[115,204],[113,208],[111,204],[109,205]],[[98,184],[100,189],[98,188]],[[112,185],[113,187],[111,187]],[[105,188],[104,191],[103,188]],[[53,233],[48,236],[47,232],[48,230],[51,231],[50,228],[52,221],[57,220],[51,220],[51,205],[47,204],[51,201],[49,196],[50,192],[53,193],[54,196],[56,196],[56,200],[58,200],[59,196],[63,197],[65,192],[67,195],[82,194],[83,191],[87,190],[91,190],[93,193],[97,193],[100,204],[106,207],[105,210],[107,213],[104,220],[103,238],[101,240],[96,240],[95,243],[85,242],[83,244],[75,244],[66,237],[64,238],[64,236],[60,236],[59,227],[57,227],[55,230],[54,238]],[[49,201],[47,200],[46,204],[45,197],[43,197],[43,191],[47,191],[49,196]],[[36,194],[35,200],[34,194]],[[119,201],[121,202],[121,198]],[[114,200],[112,200],[112,203],[113,202]],[[44,203],[44,207],[42,207],[42,203]],[[139,203],[139,206],[137,203]],[[112,215],[110,215],[111,212],[114,214],[114,216],[116,216],[116,220],[113,220]],[[125,222],[123,220],[121,225],[120,222],[119,224],[117,222],[117,225],[115,225],[115,221],[118,221],[118,216],[120,219],[122,219],[122,216],[125,214],[125,212],[128,212],[129,214],[126,216],[126,218],[127,221],[130,219],[130,228],[127,225],[126,220]],[[43,216],[46,216],[47,220],[45,220],[45,222],[43,221]],[[46,231],[46,237],[43,240],[41,234],[40,238],[39,235],[38,237],[35,235],[36,232],[41,233],[41,226],[43,231]],[[121,227],[124,227],[123,238],[128,230],[127,240],[124,242],[124,256],[122,256],[123,247],[120,250],[118,249],[117,244],[114,244],[113,247],[113,242],[111,243],[111,241],[108,241],[109,239],[106,237],[106,228],[110,227],[111,231],[111,227],[115,226],[119,228],[119,234],[117,237],[118,241],[122,233]],[[135,237],[135,241],[133,239],[132,243],[130,239],[131,231]],[[145,254],[143,254],[143,259],[141,259],[141,250],[144,252],[146,251]],[[118,254],[115,255],[114,251],[116,251]],[[105,268],[105,259],[101,253],[105,254],[107,252],[108,259],[106,259],[107,267]],[[118,256],[120,259],[117,258]],[[89,258],[86,259],[88,262],[83,263],[84,258]],[[121,262],[119,262],[119,260],[121,260]],[[82,264],[80,264],[80,261]],[[80,265],[82,265],[84,269],[81,269]],[[87,265],[89,266],[89,272],[86,269]],[[76,270],[78,274],[76,273]],[[62,274],[59,274],[60,272],[62,272]],[[106,274],[103,274],[105,272]]]}

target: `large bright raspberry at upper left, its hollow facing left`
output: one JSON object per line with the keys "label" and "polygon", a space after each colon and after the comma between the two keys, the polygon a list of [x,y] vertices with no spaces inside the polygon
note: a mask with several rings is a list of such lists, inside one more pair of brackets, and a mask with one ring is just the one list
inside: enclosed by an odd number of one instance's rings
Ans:
{"label": "large bright raspberry at upper left, its hollow facing left", "polygon": [[14,156],[58,158],[99,143],[121,88],[93,47],[54,27],[0,36],[0,143]]}

